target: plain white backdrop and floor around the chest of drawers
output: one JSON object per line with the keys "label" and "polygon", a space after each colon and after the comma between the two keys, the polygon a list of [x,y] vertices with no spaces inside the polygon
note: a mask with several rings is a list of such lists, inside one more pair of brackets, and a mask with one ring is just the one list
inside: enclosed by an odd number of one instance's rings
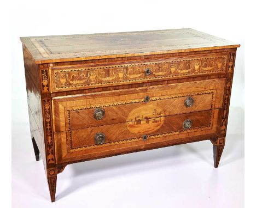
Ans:
{"label": "plain white backdrop and floor around the chest of drawers", "polygon": [[[12,9],[13,207],[243,207],[244,37],[235,1],[19,1]],[[28,123],[20,36],[194,28],[241,44],[219,168],[209,141],[72,164],[50,203]]]}

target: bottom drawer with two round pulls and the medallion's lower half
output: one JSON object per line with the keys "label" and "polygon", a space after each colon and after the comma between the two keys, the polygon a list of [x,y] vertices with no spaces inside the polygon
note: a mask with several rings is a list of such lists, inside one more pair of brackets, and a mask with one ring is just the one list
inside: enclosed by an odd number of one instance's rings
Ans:
{"label": "bottom drawer with two round pulls and the medallion's lower half", "polygon": [[153,149],[154,145],[159,148],[184,142],[184,139],[189,142],[189,137],[214,137],[219,132],[221,111],[212,109],[159,117],[143,123],[126,122],[56,132],[57,163]]}

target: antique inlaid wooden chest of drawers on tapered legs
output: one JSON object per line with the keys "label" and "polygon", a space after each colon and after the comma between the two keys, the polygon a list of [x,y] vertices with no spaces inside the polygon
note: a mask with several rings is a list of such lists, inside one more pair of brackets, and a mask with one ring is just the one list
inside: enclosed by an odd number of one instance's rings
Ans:
{"label": "antique inlaid wooden chest of drawers on tapered legs", "polygon": [[236,48],[193,29],[21,38],[31,138],[55,200],[67,164],[225,145]]}

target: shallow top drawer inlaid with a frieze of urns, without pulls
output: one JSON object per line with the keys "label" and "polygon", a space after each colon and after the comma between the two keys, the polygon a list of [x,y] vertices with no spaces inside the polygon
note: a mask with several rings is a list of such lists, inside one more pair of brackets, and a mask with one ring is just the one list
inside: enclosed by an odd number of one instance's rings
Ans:
{"label": "shallow top drawer inlaid with a frieze of urns, without pulls", "polygon": [[225,74],[228,53],[119,64],[55,66],[51,91],[69,91],[142,83],[196,75]]}

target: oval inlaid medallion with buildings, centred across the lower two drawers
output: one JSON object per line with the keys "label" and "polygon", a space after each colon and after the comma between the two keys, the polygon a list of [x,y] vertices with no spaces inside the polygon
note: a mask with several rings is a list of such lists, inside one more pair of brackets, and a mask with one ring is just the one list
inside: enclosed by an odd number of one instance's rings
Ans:
{"label": "oval inlaid medallion with buildings, centred across the lower two drawers", "polygon": [[127,119],[127,129],[132,133],[152,133],[164,124],[164,109],[155,105],[143,105],[133,109]]}

